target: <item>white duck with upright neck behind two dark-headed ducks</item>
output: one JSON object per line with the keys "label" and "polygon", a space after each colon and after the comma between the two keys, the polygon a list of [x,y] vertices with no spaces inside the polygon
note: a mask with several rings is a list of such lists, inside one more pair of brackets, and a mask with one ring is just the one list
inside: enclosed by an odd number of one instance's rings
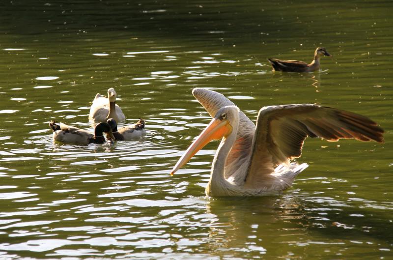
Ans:
{"label": "white duck with upright neck behind two dark-headed ducks", "polygon": [[94,123],[106,122],[113,118],[117,122],[123,122],[124,116],[121,108],[116,104],[116,91],[111,87],[108,89],[108,98],[97,93],[90,107],[89,120]]}

